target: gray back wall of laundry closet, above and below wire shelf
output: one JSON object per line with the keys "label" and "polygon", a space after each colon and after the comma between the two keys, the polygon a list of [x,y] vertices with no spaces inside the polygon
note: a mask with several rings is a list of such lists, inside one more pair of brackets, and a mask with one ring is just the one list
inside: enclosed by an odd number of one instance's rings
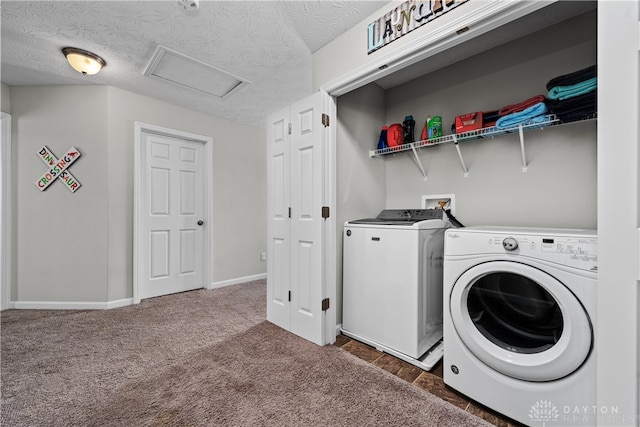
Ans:
{"label": "gray back wall of laundry closet, above and below wire shelf", "polygon": [[[546,94],[551,78],[596,62],[596,14],[588,13],[387,91],[386,122],[413,114],[419,134],[427,115],[439,115],[448,134],[456,115]],[[468,178],[452,144],[420,151],[426,181],[412,154],[387,156],[387,207],[455,193],[465,225],[596,228],[596,122],[529,131],[524,140],[526,173],[517,134],[461,142]]]}

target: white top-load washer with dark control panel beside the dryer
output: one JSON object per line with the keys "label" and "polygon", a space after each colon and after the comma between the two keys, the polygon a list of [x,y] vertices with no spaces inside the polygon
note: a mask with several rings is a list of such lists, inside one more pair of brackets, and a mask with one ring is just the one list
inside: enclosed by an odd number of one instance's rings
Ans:
{"label": "white top-load washer with dark control panel beside the dryer", "polygon": [[441,209],[390,209],[344,224],[345,335],[423,369],[433,367],[442,356],[441,345],[434,347],[442,340],[448,227]]}

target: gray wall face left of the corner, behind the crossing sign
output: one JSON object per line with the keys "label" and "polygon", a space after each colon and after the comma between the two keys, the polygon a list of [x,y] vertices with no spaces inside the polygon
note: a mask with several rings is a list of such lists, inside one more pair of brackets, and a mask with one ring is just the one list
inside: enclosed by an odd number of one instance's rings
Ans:
{"label": "gray wall face left of the corner, behind the crossing sign", "polygon": [[[107,88],[11,89],[13,146],[13,294],[15,301],[106,301]],[[60,182],[41,192],[43,145],[61,157],[82,153],[69,169],[82,187]]]}

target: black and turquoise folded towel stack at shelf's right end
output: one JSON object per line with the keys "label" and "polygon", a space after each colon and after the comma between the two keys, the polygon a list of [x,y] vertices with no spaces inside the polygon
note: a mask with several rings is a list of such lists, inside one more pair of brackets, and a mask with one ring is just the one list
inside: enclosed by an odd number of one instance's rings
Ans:
{"label": "black and turquoise folded towel stack at shelf's right end", "polygon": [[561,122],[592,116],[597,111],[597,68],[592,65],[547,82],[547,106]]}

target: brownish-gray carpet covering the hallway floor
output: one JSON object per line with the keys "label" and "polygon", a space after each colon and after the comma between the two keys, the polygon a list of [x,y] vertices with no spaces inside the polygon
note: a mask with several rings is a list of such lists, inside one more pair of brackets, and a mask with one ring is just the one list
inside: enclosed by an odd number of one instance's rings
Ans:
{"label": "brownish-gray carpet covering the hallway floor", "polygon": [[3,426],[488,425],[264,320],[264,281],[2,313]]}

